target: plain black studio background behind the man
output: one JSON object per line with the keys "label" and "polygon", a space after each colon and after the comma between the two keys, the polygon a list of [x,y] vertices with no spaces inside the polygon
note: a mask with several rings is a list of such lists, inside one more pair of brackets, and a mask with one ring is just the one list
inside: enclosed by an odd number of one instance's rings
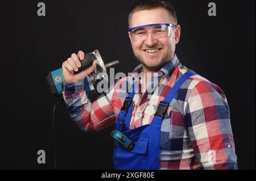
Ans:
{"label": "plain black studio background behind the man", "polygon": [[[72,53],[99,49],[115,72],[138,65],[127,36],[136,1],[0,1],[0,169],[54,169],[52,110],[46,76]],[[255,169],[255,1],[170,1],[181,39],[176,54],[187,68],[225,92],[240,169]],[[215,2],[217,16],[208,16]],[[83,133],[64,103],[56,108],[57,169],[113,169],[112,127]],[[37,151],[46,151],[39,165]]]}

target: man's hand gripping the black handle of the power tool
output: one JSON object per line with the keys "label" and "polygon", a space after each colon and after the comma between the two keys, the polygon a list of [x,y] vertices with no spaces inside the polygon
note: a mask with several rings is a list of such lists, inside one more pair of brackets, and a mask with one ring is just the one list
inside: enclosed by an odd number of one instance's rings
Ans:
{"label": "man's hand gripping the black handle of the power tool", "polygon": [[73,53],[71,57],[63,62],[62,69],[65,82],[72,83],[83,81],[84,78],[92,73],[92,71],[96,68],[98,61],[94,60],[93,65],[90,66],[88,69],[85,69],[78,74],[73,74],[74,71],[78,71],[78,69],[81,67],[80,60],[84,60],[84,56],[84,52],[80,50],[77,54]]}

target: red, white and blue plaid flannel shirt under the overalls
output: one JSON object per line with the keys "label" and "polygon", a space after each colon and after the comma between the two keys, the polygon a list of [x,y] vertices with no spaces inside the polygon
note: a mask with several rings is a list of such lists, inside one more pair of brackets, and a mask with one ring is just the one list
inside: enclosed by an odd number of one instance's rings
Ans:
{"label": "red, white and blue plaid flannel shirt under the overalls", "polygon": [[[151,79],[151,90],[134,95],[130,129],[150,124],[160,101],[187,72],[176,54]],[[142,65],[133,71],[141,78]],[[115,123],[127,91],[128,77],[94,102],[83,82],[63,84],[65,104],[81,131],[99,131]],[[158,81],[158,83],[152,83]],[[120,91],[121,90],[121,91]],[[148,89],[149,90],[149,89]],[[158,90],[158,91],[155,91]],[[237,169],[237,156],[224,92],[200,75],[180,87],[163,118],[160,133],[160,169]]]}

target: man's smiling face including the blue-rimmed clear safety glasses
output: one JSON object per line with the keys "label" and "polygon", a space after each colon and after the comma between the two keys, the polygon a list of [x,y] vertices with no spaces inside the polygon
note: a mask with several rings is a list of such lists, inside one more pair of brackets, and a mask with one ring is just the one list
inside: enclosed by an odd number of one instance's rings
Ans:
{"label": "man's smiling face including the blue-rimmed clear safety glasses", "polygon": [[[141,10],[139,10],[141,9]],[[138,11],[139,10],[139,11]],[[172,14],[172,15],[170,15]],[[174,57],[180,26],[174,9],[137,7],[129,15],[129,37],[135,57],[146,72],[159,71]]]}

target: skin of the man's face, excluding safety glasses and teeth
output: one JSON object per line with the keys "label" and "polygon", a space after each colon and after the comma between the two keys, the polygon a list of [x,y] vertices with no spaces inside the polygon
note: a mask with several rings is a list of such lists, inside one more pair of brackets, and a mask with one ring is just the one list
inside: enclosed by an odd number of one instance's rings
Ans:
{"label": "skin of the man's face, excluding safety glasses and teeth", "polygon": [[[166,9],[152,9],[135,11],[131,16],[130,28],[146,24],[174,23]],[[147,29],[150,31],[150,27]],[[175,45],[179,42],[180,26],[171,28],[171,35],[162,39],[155,39],[152,33],[147,34],[144,41],[134,41],[129,32],[131,46],[135,57],[142,63],[143,68],[148,71],[159,71],[174,57]],[[156,53],[147,53],[146,50],[159,49]]]}

